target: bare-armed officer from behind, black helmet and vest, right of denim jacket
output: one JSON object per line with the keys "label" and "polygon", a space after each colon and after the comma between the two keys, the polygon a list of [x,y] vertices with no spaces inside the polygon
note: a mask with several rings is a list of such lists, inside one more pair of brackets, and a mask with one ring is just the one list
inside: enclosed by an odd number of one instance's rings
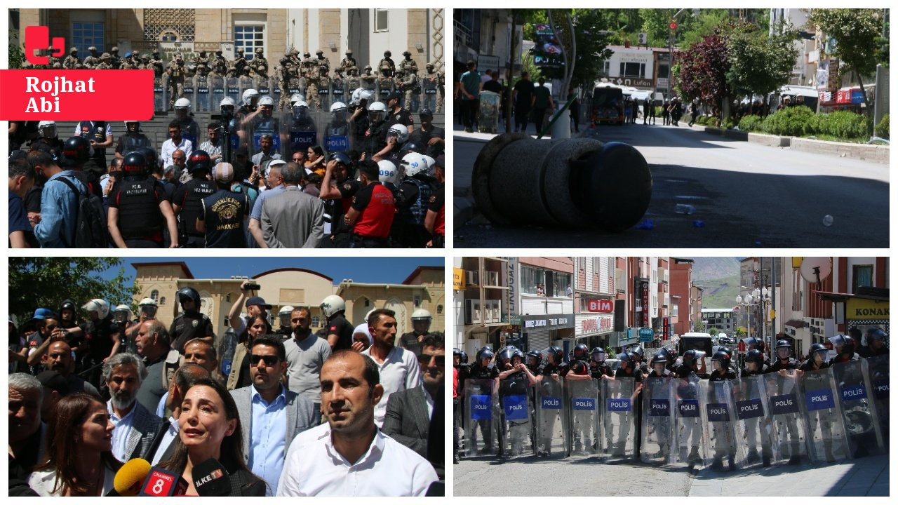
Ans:
{"label": "bare-armed officer from behind, black helmet and vest, right of denim jacket", "polygon": [[162,247],[163,226],[178,247],[178,225],[172,204],[154,177],[149,176],[144,155],[131,152],[121,164],[124,178],[109,199],[110,236],[119,248]]}

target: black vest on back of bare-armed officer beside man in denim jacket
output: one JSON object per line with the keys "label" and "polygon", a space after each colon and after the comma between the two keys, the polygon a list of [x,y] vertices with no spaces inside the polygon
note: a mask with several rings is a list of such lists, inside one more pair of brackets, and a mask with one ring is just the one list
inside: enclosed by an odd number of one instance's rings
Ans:
{"label": "black vest on back of bare-armed officer beside man in denim jacket", "polygon": [[116,197],[122,238],[148,238],[162,233],[164,221],[159,210],[159,190],[153,178],[122,184]]}

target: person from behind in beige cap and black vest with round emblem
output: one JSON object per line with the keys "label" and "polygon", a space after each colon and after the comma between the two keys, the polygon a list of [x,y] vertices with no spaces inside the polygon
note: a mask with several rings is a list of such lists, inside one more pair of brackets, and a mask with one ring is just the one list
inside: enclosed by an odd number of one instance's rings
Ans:
{"label": "person from behind in beige cap and black vest with round emblem", "polygon": [[197,216],[197,231],[206,234],[206,247],[246,247],[243,221],[250,212],[250,197],[231,190],[233,166],[216,164],[213,171],[217,191],[202,199]]}

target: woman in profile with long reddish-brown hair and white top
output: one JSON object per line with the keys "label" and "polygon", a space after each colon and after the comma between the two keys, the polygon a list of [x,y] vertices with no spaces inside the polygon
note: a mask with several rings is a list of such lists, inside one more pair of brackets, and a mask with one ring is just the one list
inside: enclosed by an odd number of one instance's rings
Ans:
{"label": "woman in profile with long reddish-brown hair and white top", "polygon": [[47,426],[47,456],[28,477],[40,496],[104,496],[113,489],[121,463],[112,456],[106,404],[90,394],[68,395]]}

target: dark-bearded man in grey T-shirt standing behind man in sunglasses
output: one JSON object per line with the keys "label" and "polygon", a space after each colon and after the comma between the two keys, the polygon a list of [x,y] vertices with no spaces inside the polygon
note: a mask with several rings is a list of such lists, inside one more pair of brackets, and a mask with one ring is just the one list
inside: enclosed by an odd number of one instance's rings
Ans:
{"label": "dark-bearded man in grey T-shirt standing behind man in sunglasses", "polygon": [[299,307],[290,313],[290,337],[284,341],[286,349],[287,387],[314,403],[321,411],[321,366],[330,358],[330,345],[318,338],[310,328],[312,313],[309,307]]}

